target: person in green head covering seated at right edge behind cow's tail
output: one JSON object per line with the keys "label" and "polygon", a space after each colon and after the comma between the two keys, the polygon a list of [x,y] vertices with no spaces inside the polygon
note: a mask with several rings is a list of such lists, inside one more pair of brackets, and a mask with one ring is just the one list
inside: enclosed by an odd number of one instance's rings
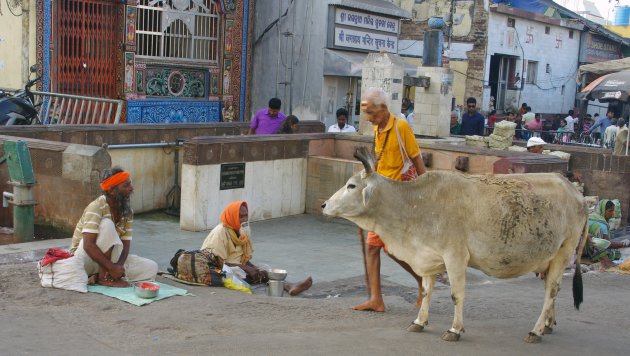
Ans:
{"label": "person in green head covering seated at right edge behind cow's tail", "polygon": [[[588,216],[588,241],[584,255],[592,262],[601,262],[603,268],[613,267],[612,261],[621,258],[618,249],[630,246],[630,240],[611,240],[608,221],[615,214],[615,204],[611,200],[602,199]],[[598,239],[598,240],[595,240]]]}

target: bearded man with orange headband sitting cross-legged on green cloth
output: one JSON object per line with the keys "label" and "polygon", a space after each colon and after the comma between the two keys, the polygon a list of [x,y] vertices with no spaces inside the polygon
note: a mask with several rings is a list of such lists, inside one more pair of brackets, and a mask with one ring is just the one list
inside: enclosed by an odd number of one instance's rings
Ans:
{"label": "bearded man with orange headband sitting cross-legged on green cloth", "polygon": [[154,280],[157,263],[129,254],[133,231],[129,173],[120,167],[106,170],[101,189],[103,195],[83,211],[70,245],[70,253],[83,260],[88,284],[128,287],[127,281]]}

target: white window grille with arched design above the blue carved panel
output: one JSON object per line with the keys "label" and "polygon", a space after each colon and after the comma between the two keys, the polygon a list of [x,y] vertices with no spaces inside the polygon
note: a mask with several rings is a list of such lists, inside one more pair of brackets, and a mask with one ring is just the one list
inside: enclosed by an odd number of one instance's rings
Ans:
{"label": "white window grille with arched design above the blue carved panel", "polygon": [[137,7],[137,57],[218,63],[215,1],[139,0]]}

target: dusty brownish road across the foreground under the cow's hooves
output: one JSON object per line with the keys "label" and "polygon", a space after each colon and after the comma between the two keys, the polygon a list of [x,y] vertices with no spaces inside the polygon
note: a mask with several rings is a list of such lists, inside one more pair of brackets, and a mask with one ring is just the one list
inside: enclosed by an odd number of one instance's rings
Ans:
{"label": "dusty brownish road across the foreground under the cow's hooves", "polygon": [[630,336],[630,275],[615,273],[584,275],[580,311],[565,276],[558,325],[535,345],[522,341],[542,306],[542,283],[533,275],[471,281],[458,343],[440,340],[453,312],[444,285],[434,294],[428,330],[417,334],[405,331],[416,315],[413,288],[386,283],[385,313],[349,309],[364,299],[362,277],[316,283],[296,298],[270,298],[262,288],[247,295],[183,286],[195,296],[143,307],[38,282],[32,262],[0,265],[0,354],[624,355]]}

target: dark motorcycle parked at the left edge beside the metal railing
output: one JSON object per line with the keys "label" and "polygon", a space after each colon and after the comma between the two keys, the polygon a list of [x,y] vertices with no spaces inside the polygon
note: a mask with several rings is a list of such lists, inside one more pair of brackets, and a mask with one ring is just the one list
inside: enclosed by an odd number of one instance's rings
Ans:
{"label": "dark motorcycle parked at the left edge beside the metal railing", "polygon": [[[36,73],[37,65],[31,66],[30,72]],[[35,106],[35,95],[31,92],[31,87],[40,79],[41,77],[37,77],[29,80],[26,82],[24,89],[20,89],[13,94],[0,90],[0,126],[39,123]]]}

